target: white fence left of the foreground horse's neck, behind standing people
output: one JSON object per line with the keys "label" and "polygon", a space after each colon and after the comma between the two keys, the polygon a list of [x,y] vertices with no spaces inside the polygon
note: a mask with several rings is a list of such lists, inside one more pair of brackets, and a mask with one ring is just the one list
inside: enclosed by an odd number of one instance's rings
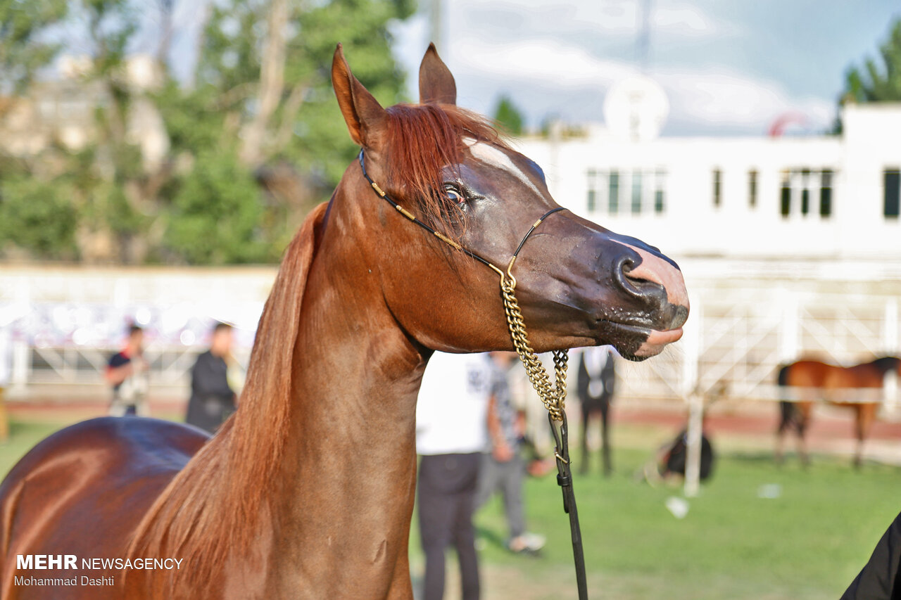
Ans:
{"label": "white fence left of the foreground horse's neck, behind standing people", "polygon": [[[275,268],[0,268],[0,386],[12,396],[104,386],[129,323],[145,328],[156,393],[184,395],[215,321],[250,353]],[[101,395],[99,397],[105,397]]]}

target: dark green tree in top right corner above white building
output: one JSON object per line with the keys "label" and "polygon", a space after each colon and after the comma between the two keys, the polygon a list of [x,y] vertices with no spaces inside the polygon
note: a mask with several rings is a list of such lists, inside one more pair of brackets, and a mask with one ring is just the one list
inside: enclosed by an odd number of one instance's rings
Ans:
{"label": "dark green tree in top right corner above white building", "polygon": [[848,69],[841,103],[899,100],[901,100],[901,19],[895,22],[888,40],[879,48],[878,60],[868,58],[862,67]]}

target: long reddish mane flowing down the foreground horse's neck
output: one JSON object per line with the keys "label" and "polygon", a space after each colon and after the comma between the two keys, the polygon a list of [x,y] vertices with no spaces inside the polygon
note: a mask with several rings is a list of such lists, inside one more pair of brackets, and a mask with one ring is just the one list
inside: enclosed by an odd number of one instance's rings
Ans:
{"label": "long reddish mane flowing down the foreground horse's neck", "polygon": [[[287,439],[292,359],[306,277],[326,204],[306,217],[288,245],[259,319],[238,411],[206,442],[144,515],[128,550],[132,558],[177,556],[180,577],[209,583],[232,550],[250,547],[267,513],[266,496]],[[150,597],[172,597],[175,582],[157,582]]]}

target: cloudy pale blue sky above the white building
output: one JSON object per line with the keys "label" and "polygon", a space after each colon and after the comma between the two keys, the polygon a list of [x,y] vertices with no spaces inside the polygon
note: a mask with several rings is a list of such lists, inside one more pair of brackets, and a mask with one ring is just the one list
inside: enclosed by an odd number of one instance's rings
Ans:
{"label": "cloudy pale blue sky above the white building", "polygon": [[[411,97],[432,37],[423,10],[394,29]],[[650,5],[645,59],[643,10]],[[762,135],[831,127],[844,73],[875,56],[898,0],[443,0],[439,52],[458,104],[492,114],[509,95],[539,126],[603,122],[607,91],[643,73],[663,87],[663,135]]]}

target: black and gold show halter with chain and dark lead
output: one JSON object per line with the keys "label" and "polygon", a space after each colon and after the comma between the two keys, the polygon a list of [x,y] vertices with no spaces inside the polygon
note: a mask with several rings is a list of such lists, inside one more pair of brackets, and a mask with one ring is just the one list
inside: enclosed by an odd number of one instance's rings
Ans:
{"label": "black and gold show halter with chain and dark lead", "polygon": [[516,354],[519,355],[519,359],[523,362],[523,367],[525,368],[526,375],[529,377],[529,381],[532,382],[532,387],[535,388],[538,396],[542,399],[542,404],[548,411],[548,422],[551,423],[551,432],[553,432],[554,441],[556,442],[554,458],[557,459],[557,483],[563,491],[563,510],[569,514],[569,530],[572,538],[573,557],[576,562],[578,597],[579,600],[586,600],[588,595],[585,578],[585,557],[582,551],[582,538],[578,526],[576,496],[573,493],[572,474],[569,469],[569,432],[566,412],[564,410],[566,401],[566,370],[569,354],[567,353],[567,350],[552,351],[554,358],[554,383],[551,386],[551,378],[544,369],[542,361],[535,354],[535,350],[532,350],[532,346],[529,344],[529,339],[525,332],[525,323],[523,322],[523,312],[520,310],[519,302],[516,300],[516,277],[513,275],[513,265],[514,262],[516,262],[516,257],[519,256],[520,250],[523,250],[523,245],[525,245],[525,242],[532,233],[551,214],[559,213],[565,209],[563,206],[552,208],[547,213],[542,214],[538,221],[532,223],[532,227],[529,228],[528,232],[525,232],[523,240],[519,242],[519,245],[510,257],[510,262],[507,263],[506,270],[502,270],[490,260],[482,258],[476,252],[451,240],[450,237],[434,229],[428,223],[424,223],[417,218],[416,215],[399,205],[394,198],[387,195],[385,191],[372,180],[372,177],[369,177],[369,173],[366,172],[366,164],[362,149],[359,150],[359,156],[357,158],[359,160],[359,168],[363,172],[363,177],[366,177],[366,180],[369,182],[369,186],[372,187],[373,191],[375,191],[380,198],[386,200],[389,205],[392,205],[398,213],[403,214],[408,220],[416,223],[426,232],[432,233],[433,236],[448,244],[454,250],[460,250],[460,252],[463,252],[470,258],[478,260],[478,262],[482,263],[487,268],[495,271],[500,277],[501,297],[504,300],[504,312],[506,314],[507,327],[510,330],[510,339],[513,341]]}

